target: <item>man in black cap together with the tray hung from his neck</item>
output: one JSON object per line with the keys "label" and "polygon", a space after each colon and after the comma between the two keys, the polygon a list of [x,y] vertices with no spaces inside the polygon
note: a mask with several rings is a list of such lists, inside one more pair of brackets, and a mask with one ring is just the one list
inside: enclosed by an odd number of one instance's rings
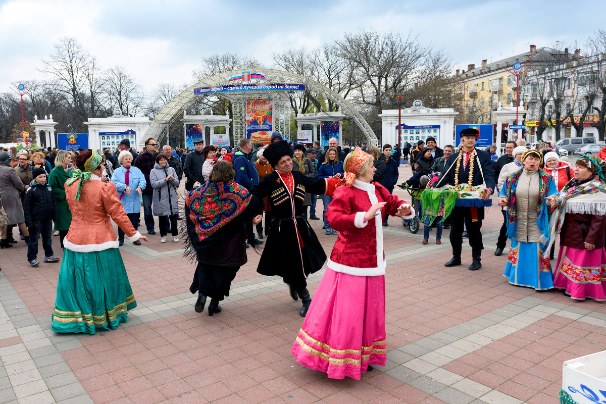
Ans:
{"label": "man in black cap together with the tray hung from his neck", "polygon": [[[484,245],[480,229],[484,219],[484,207],[490,206],[490,196],[495,184],[490,153],[474,148],[479,135],[479,131],[474,128],[465,128],[461,131],[463,148],[459,153],[452,154],[448,158],[446,171],[435,185],[435,187],[453,185],[456,190],[464,187],[466,191],[470,191],[459,192],[452,208],[450,244],[453,248],[453,257],[444,264],[445,267],[461,265],[464,225],[467,225],[473,257],[469,269],[475,271],[482,267],[481,256]],[[465,184],[468,187],[465,187]]]}

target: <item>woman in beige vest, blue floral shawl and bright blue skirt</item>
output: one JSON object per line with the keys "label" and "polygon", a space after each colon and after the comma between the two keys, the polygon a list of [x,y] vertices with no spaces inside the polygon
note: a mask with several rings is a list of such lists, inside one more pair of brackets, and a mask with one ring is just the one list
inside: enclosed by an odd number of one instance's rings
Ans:
{"label": "woman in beige vest, blue floral shawl and bright blue skirt", "polygon": [[543,253],[549,242],[550,206],[559,200],[553,177],[539,168],[542,157],[538,150],[526,151],[524,167],[505,180],[499,194],[499,205],[507,207],[511,239],[503,275],[513,285],[536,290],[553,289],[551,263]]}

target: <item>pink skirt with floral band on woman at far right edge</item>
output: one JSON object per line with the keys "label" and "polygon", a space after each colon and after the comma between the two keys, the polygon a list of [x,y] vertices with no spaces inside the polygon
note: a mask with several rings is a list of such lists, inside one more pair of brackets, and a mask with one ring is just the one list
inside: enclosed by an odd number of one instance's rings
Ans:
{"label": "pink skirt with floral band on woman at far right edge", "polygon": [[606,251],[560,247],[553,284],[576,300],[606,300]]}

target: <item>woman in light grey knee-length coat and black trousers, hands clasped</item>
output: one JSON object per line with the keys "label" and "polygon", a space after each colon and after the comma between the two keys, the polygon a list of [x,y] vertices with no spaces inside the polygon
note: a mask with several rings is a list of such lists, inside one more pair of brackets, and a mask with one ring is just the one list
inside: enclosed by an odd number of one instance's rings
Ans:
{"label": "woman in light grey knee-length coat and black trousers, hands clasped", "polygon": [[156,156],[156,164],[150,173],[150,183],[153,187],[153,214],[159,216],[160,242],[166,242],[166,222],[168,219],[172,229],[173,242],[176,243],[179,241],[179,237],[177,237],[179,231],[177,228],[179,198],[175,187],[179,187],[179,178],[175,169],[168,165],[168,159],[164,154]]}

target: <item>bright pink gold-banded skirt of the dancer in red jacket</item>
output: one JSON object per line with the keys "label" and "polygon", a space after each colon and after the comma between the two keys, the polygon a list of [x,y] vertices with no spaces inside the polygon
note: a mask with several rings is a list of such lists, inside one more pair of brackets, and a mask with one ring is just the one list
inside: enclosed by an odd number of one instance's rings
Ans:
{"label": "bright pink gold-banded skirt of the dancer in red jacket", "polygon": [[385,365],[385,276],[327,268],[290,352],[331,379],[360,380],[368,365]]}

